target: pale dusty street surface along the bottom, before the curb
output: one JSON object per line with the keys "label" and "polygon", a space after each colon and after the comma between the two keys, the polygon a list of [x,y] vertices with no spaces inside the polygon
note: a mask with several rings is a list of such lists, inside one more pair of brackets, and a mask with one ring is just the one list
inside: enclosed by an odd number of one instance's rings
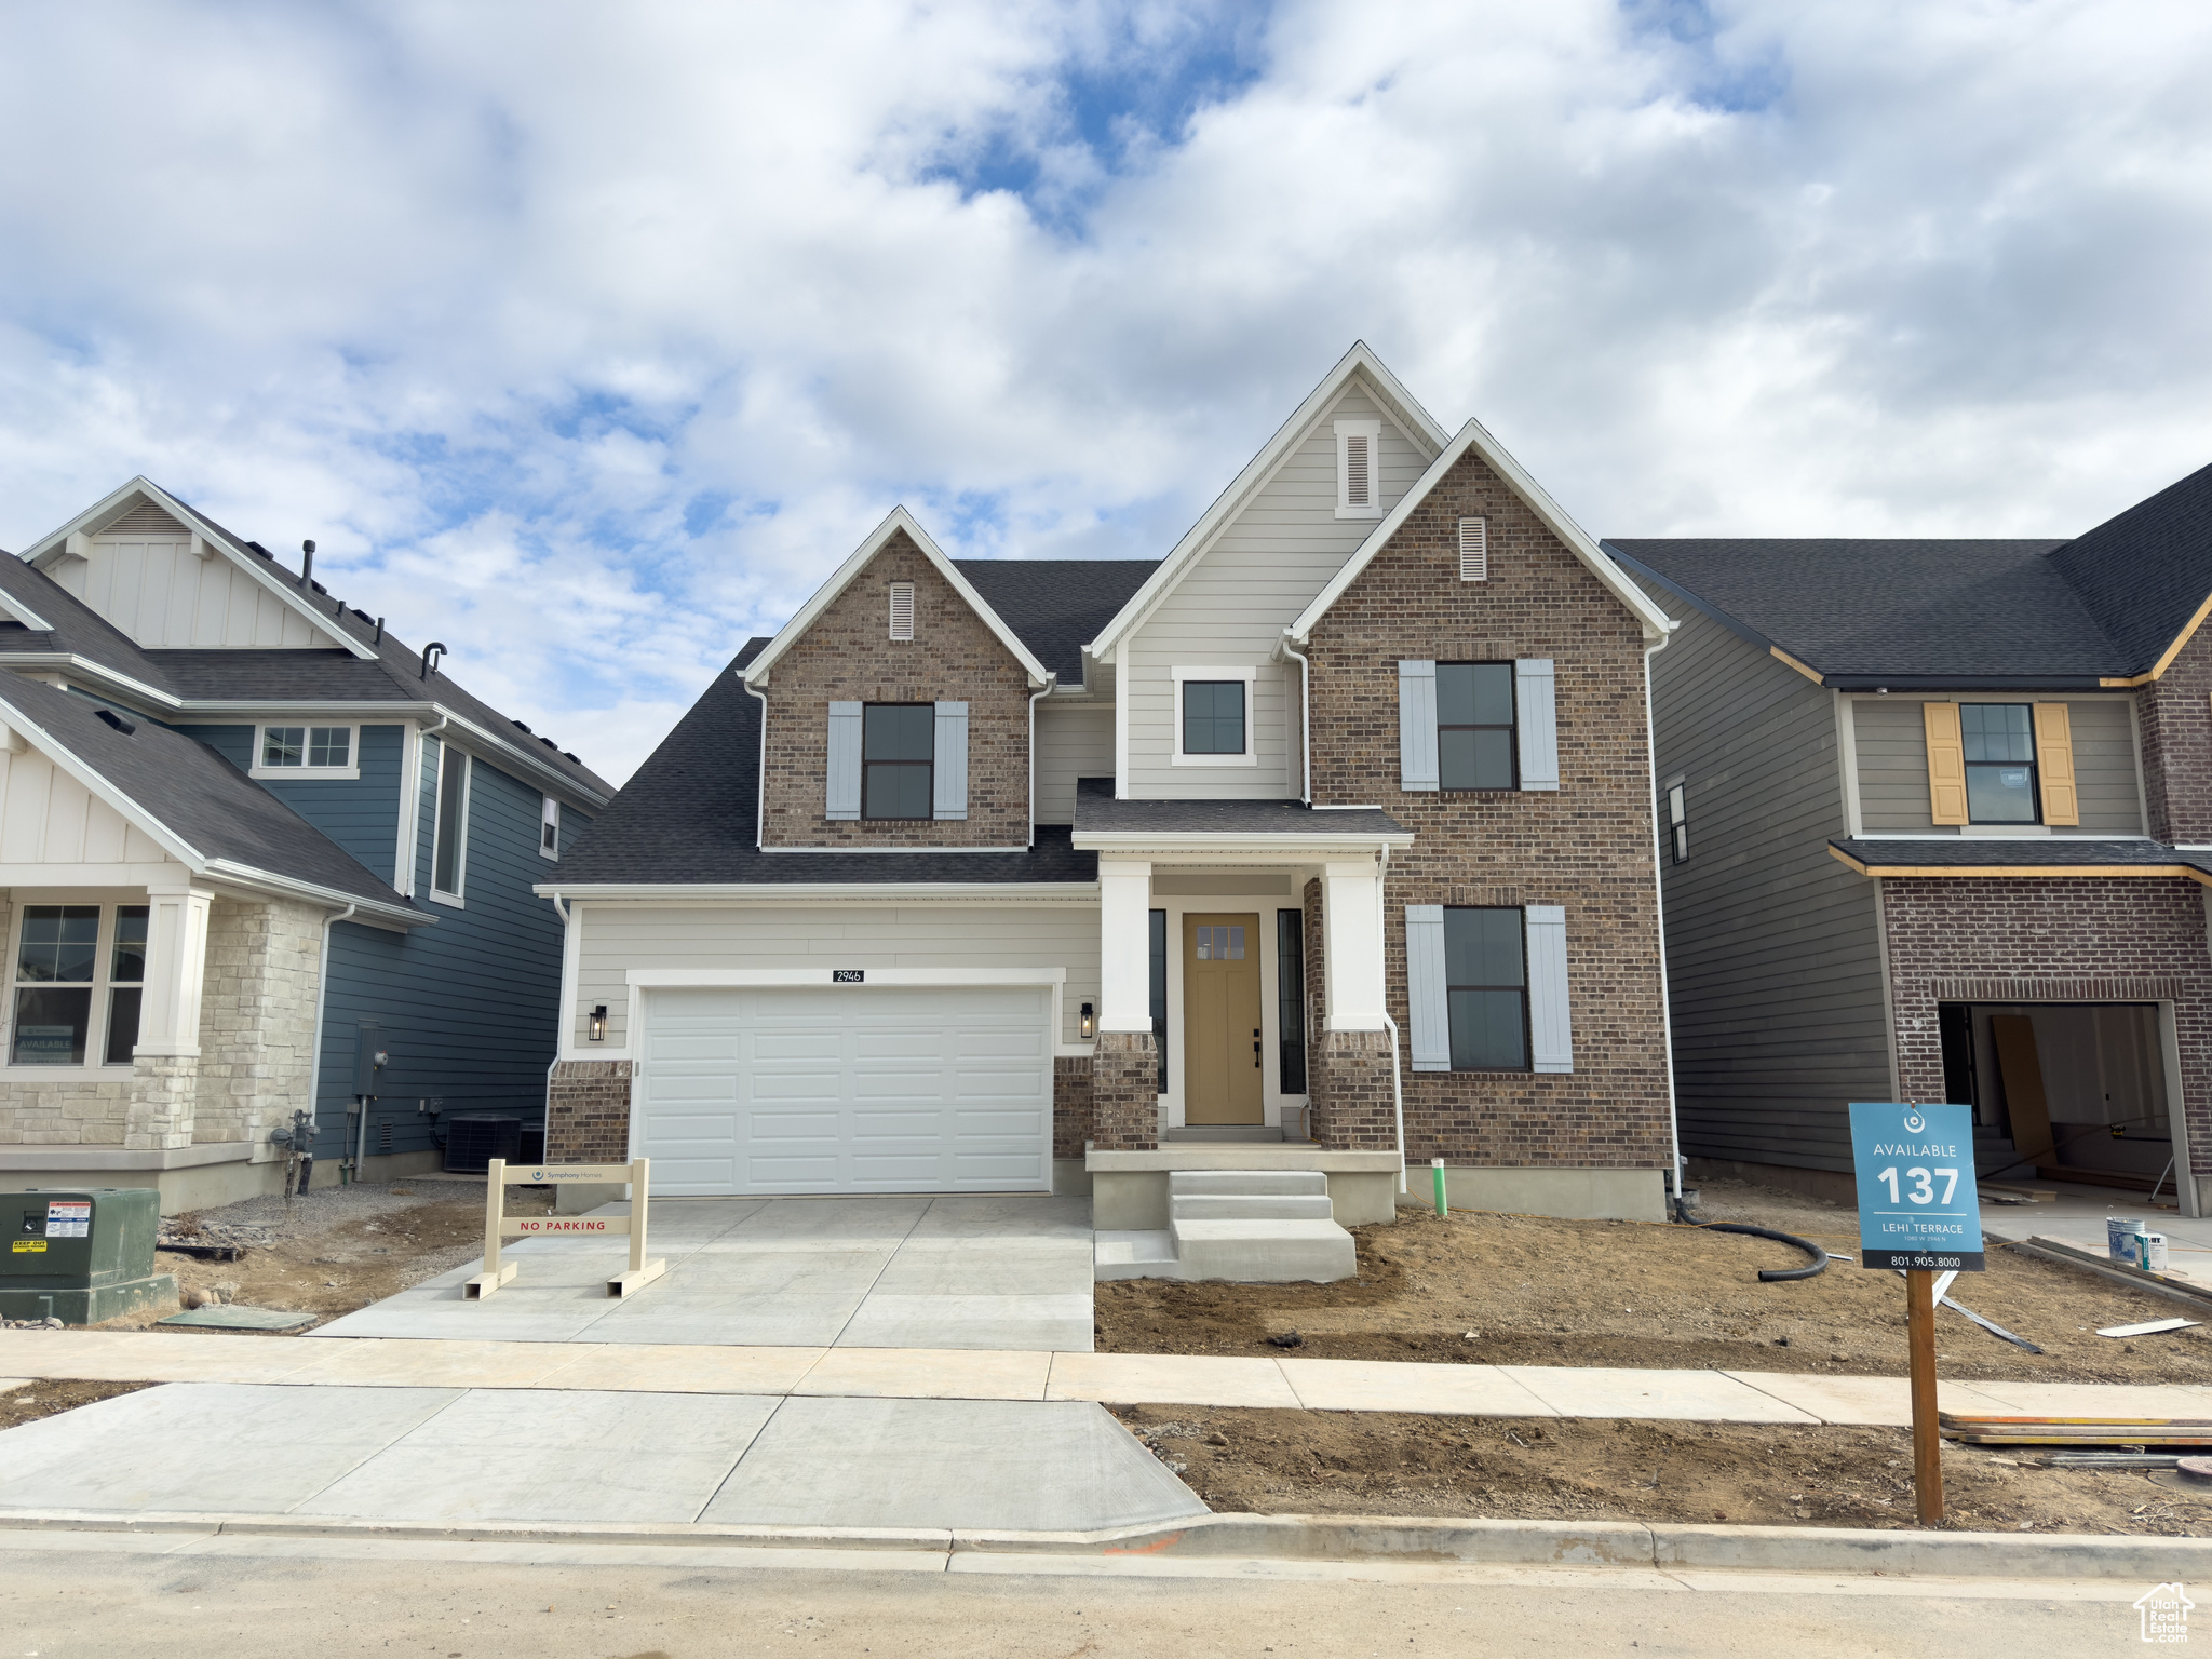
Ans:
{"label": "pale dusty street surface along the bottom, before the curb", "polygon": [[0,1659],[2017,1659],[2141,1652],[2130,1601],[2150,1588],[1604,1568],[947,1573],[929,1557],[841,1553],[794,1568],[699,1548],[487,1555],[498,1548],[0,1533]]}

